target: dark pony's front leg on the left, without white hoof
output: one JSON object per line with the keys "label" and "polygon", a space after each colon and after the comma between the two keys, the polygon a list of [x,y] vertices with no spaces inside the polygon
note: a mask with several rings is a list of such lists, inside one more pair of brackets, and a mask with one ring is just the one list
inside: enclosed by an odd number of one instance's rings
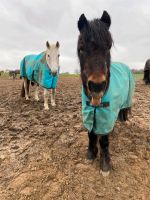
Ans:
{"label": "dark pony's front leg on the left, without white hoof", "polygon": [[97,148],[97,135],[91,131],[88,132],[89,137],[89,145],[87,150],[87,158],[89,160],[94,160],[97,156],[98,148]]}

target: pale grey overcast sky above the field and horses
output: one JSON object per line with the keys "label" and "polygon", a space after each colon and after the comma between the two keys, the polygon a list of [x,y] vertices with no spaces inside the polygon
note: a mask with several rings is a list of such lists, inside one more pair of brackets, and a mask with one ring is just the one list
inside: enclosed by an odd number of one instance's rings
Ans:
{"label": "pale grey overcast sky above the field and horses", "polygon": [[149,0],[0,0],[0,69],[17,69],[27,54],[60,42],[61,72],[79,68],[77,21],[111,16],[112,60],[143,68],[150,58]]}

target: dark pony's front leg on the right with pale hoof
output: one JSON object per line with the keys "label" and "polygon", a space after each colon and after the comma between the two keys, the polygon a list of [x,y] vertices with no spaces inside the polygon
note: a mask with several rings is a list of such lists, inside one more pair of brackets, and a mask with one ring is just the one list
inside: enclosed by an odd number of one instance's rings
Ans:
{"label": "dark pony's front leg on the right with pale hoof", "polygon": [[100,168],[104,176],[109,175],[111,164],[109,154],[109,137],[108,135],[101,136],[100,138]]}

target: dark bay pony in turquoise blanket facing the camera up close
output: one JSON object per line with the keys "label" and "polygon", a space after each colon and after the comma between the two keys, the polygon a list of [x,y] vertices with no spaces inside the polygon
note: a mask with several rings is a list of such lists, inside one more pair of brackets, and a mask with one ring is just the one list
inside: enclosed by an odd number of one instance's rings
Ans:
{"label": "dark bay pony in turquoise blanket facing the camera up close", "polygon": [[82,115],[88,130],[87,158],[95,159],[100,145],[100,168],[103,175],[111,169],[109,133],[116,120],[128,119],[134,93],[134,79],[128,66],[111,63],[113,44],[111,19],[104,11],[99,19],[89,21],[82,14],[78,21],[80,35],[77,53],[82,79]]}

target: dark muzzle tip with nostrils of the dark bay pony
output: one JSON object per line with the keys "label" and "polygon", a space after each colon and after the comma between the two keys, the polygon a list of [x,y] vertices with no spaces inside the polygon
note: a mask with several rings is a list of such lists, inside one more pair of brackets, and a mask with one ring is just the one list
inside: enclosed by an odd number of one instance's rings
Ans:
{"label": "dark muzzle tip with nostrils of the dark bay pony", "polygon": [[106,88],[106,81],[102,81],[101,83],[95,83],[93,81],[88,81],[88,88],[90,92],[101,92]]}

